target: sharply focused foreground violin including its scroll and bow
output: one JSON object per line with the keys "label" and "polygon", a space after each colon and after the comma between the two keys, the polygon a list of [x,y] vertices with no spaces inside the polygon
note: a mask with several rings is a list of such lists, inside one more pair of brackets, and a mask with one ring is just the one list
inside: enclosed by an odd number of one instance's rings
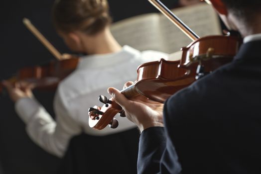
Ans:
{"label": "sharply focused foreground violin including its scroll and bow", "polygon": [[[168,18],[177,18],[159,0],[153,2]],[[139,94],[147,98],[163,103],[168,97],[178,90],[188,87],[197,79],[213,72],[220,66],[232,61],[242,43],[237,36],[207,36],[199,38],[194,32],[186,29],[184,23],[179,20],[179,28],[194,41],[187,47],[183,47],[180,61],[166,61],[161,59],[140,65],[137,68],[137,80],[133,85],[121,90],[127,98]],[[108,124],[111,128],[118,126],[114,116],[122,111],[122,107],[113,98],[99,96],[104,103],[102,107],[89,108],[89,126],[98,130],[104,129]]]}

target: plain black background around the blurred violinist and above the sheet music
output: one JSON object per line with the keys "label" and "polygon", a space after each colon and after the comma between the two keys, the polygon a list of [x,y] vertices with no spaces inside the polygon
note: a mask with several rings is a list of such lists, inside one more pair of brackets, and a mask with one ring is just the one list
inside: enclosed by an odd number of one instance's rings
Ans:
{"label": "plain black background around the blurred violinist and above the sheet music", "polygon": [[[42,34],[61,52],[70,53],[56,34],[50,18],[54,0],[4,0],[0,5],[1,63],[0,80],[11,77],[25,66],[46,63],[53,56],[25,28],[22,18],[27,17]],[[173,7],[177,0],[162,0]],[[109,0],[114,21],[130,16],[157,12],[147,0]],[[54,92],[34,91],[36,98],[53,114]],[[25,126],[15,114],[8,96],[0,97],[0,173],[53,174],[60,160],[35,145],[27,136]]]}

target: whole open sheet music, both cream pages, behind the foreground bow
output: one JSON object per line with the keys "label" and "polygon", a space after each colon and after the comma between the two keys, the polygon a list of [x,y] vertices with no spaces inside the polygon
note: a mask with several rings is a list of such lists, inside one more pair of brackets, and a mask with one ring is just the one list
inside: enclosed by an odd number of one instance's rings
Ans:
{"label": "whole open sheet music, both cream pages, behind the foreground bow", "polygon": [[[206,3],[172,11],[200,37],[221,34],[218,16]],[[111,30],[121,45],[130,45],[141,51],[173,53],[192,42],[161,13],[149,13],[119,21],[112,24]]]}

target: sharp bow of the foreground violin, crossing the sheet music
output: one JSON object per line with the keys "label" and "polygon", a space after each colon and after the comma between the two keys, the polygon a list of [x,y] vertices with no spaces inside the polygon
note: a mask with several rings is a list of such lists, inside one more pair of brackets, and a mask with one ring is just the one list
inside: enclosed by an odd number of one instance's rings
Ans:
{"label": "sharp bow of the foreground violin, crossing the sheet music", "polygon": [[174,23],[183,33],[185,33],[191,40],[199,39],[199,36],[192,31],[185,23],[183,23],[170,9],[168,9],[160,0],[148,0],[155,6],[162,14],[164,14],[172,23]]}

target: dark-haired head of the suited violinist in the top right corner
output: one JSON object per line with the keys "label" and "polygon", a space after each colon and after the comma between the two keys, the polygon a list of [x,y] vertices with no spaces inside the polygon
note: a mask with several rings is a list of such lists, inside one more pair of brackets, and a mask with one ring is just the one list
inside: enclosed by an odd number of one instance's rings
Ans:
{"label": "dark-haired head of the suited violinist in the top right corner", "polygon": [[261,0],[222,0],[231,12],[246,22],[261,14]]}

